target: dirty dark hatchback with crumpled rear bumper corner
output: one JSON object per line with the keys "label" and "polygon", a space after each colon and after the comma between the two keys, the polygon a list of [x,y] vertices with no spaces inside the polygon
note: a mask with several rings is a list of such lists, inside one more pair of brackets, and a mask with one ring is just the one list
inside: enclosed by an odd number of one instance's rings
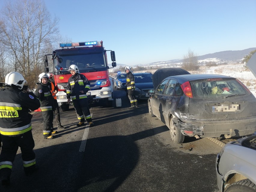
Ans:
{"label": "dirty dark hatchback with crumpled rear bumper corner", "polygon": [[149,93],[149,114],[168,126],[176,143],[185,136],[231,138],[256,131],[256,98],[236,78],[170,76]]}

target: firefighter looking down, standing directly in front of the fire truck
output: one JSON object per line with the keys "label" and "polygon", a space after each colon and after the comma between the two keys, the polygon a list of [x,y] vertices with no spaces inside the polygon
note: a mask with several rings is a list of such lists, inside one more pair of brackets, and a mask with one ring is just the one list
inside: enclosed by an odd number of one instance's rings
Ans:
{"label": "firefighter looking down, standing directly in front of the fire truck", "polygon": [[94,126],[94,123],[92,122],[86,94],[90,90],[90,82],[83,74],[79,73],[76,65],[71,65],[69,71],[72,76],[68,81],[67,98],[68,103],[71,100],[70,98],[72,98],[77,118],[80,120],[77,126],[83,125],[86,119],[90,127],[92,127]]}

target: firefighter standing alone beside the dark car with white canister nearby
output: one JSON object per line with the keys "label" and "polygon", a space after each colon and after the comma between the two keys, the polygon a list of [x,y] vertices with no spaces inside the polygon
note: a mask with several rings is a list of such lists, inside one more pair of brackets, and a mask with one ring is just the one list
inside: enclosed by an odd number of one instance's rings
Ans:
{"label": "firefighter standing alone beside the dark car with white canister nearby", "polygon": [[135,90],[134,75],[132,73],[132,69],[131,69],[130,66],[127,66],[124,69],[124,72],[127,73],[127,75],[126,75],[126,88],[127,88],[128,98],[131,102],[131,106],[129,108],[134,109],[134,108],[138,107],[138,101],[134,96],[134,90]]}

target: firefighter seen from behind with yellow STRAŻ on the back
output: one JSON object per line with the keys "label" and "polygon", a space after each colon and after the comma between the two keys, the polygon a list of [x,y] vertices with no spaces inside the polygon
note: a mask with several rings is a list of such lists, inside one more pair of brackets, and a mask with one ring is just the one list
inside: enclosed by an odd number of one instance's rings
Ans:
{"label": "firefighter seen from behind with yellow STRA\u017b on the back", "polygon": [[26,80],[18,72],[5,77],[5,86],[0,90],[0,133],[2,151],[0,154],[0,175],[2,185],[10,184],[12,162],[18,147],[22,153],[26,175],[35,171],[35,142],[32,136],[30,110],[40,107],[40,101],[34,93],[24,86]]}

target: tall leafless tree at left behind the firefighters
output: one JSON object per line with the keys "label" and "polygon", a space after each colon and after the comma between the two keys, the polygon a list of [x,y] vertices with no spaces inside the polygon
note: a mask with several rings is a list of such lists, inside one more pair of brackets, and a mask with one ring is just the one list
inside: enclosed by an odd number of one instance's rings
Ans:
{"label": "tall leafless tree at left behind the firefighters", "polygon": [[41,0],[17,0],[3,10],[0,31],[8,54],[6,62],[12,71],[35,80],[44,69],[44,55],[58,41],[59,19],[50,16]]}

